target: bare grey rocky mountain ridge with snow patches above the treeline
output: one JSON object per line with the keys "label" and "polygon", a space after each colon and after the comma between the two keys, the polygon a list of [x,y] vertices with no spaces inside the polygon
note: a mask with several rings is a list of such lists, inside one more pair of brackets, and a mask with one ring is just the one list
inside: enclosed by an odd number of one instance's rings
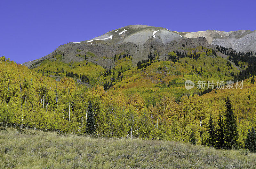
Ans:
{"label": "bare grey rocky mountain ridge with snow patches above the treeline", "polygon": [[[221,33],[225,34],[225,32]],[[233,34],[238,33],[239,31]],[[255,35],[255,31],[244,31],[243,35],[241,35],[243,38],[240,38],[238,35],[235,36],[235,38],[248,40],[247,37],[250,37],[250,34]],[[170,31],[162,27],[130,25],[109,31],[101,36],[93,38],[92,40],[70,42],[68,44],[60,45],[51,54],[33,61],[25,62],[23,65],[28,66],[29,68],[34,68],[39,62],[54,57],[58,52],[62,53],[61,62],[81,62],[84,60],[84,56],[86,55],[87,61],[97,63],[108,68],[114,66],[115,55],[126,52],[133,55],[132,64],[136,65],[139,60],[147,59],[148,54],[154,52],[160,53],[159,59],[164,60],[169,52],[179,50],[182,48],[183,44],[186,44],[186,47],[188,48],[196,48],[198,46],[213,48],[213,45],[217,44],[218,38],[220,39],[221,36],[222,35],[218,36],[218,33],[215,33],[214,31],[184,33]],[[232,33],[230,36],[232,36]],[[222,37],[224,38],[227,36],[223,35]],[[255,36],[250,38],[256,39]],[[219,41],[221,42],[219,45],[227,46],[224,45],[224,42],[225,44],[228,44],[228,40],[226,39],[222,40],[223,42],[221,40]],[[252,40],[250,39],[250,42],[248,43],[253,43],[251,41]],[[240,43],[242,43],[242,41]],[[233,48],[231,42],[228,47]],[[244,45],[242,47],[245,48]],[[253,46],[248,45],[247,48],[249,47],[254,48]]]}

